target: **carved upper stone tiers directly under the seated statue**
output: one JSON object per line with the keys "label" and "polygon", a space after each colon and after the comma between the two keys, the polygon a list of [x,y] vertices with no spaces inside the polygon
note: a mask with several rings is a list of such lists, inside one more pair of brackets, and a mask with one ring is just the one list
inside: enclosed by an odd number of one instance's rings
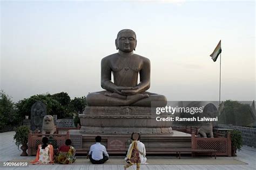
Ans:
{"label": "carved upper stone tiers directly under the seated statue", "polygon": [[82,125],[80,133],[87,134],[170,134],[172,122],[158,122],[157,115],[149,107],[86,107],[79,115]]}

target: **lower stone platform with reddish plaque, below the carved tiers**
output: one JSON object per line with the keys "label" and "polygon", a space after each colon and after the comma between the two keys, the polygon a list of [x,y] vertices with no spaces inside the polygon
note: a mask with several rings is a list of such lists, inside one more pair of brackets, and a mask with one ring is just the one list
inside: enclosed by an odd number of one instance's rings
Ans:
{"label": "lower stone platform with reddish plaque, below the carved tiers", "polygon": [[[80,148],[89,149],[92,144],[95,144],[95,137],[102,137],[102,144],[107,150],[120,151],[124,153],[128,150],[131,140],[131,134],[85,134],[79,130],[70,130],[70,136],[81,136],[82,145]],[[173,130],[171,134],[142,134],[141,140],[147,149],[165,149],[165,148],[191,148],[191,134]],[[118,152],[114,152],[118,153]]]}

